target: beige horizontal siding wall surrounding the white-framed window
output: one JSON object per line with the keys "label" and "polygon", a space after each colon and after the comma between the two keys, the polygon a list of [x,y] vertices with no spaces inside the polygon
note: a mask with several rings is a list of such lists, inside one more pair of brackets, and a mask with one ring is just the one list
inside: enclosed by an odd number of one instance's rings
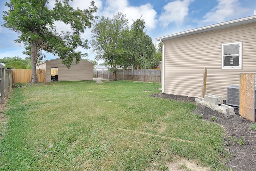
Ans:
{"label": "beige horizontal siding wall surrounding the white-framed window", "polygon": [[[242,69],[221,69],[222,44],[242,42]],[[206,94],[226,99],[226,87],[239,85],[240,73],[256,72],[256,23],[214,30],[164,41],[164,93],[202,96],[204,68]]]}

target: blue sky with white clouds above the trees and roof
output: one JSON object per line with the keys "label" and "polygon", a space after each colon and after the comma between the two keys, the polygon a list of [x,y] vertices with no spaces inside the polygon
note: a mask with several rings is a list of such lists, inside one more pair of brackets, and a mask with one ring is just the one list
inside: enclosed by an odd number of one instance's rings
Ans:
{"label": "blue sky with white clouds above the trees and roof", "polygon": [[[0,12],[8,10],[0,1]],[[49,0],[49,7],[54,5],[54,0]],[[74,0],[70,4],[80,9],[86,9],[91,0]],[[158,42],[155,38],[191,30],[211,24],[235,20],[238,18],[254,15],[256,0],[94,0],[98,7],[96,16],[112,18],[117,12],[122,12],[129,19],[131,25],[133,20],[142,16],[145,20],[146,33],[152,38],[155,45]],[[0,24],[3,24],[2,17]],[[69,26],[62,22],[56,22],[56,28],[67,31]],[[90,40],[90,29],[82,35],[84,39]],[[8,28],[0,26],[0,58],[19,56],[25,58],[23,44],[15,44],[14,40],[18,34]],[[88,59],[94,60],[94,53],[91,50],[79,48],[83,53],[88,53]],[[47,54],[46,59],[56,58]],[[102,61],[99,61],[100,64]]]}

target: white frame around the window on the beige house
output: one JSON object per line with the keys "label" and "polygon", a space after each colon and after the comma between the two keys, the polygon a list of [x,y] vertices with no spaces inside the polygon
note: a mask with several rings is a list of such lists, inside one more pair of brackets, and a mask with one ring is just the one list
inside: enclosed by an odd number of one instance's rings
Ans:
{"label": "white frame around the window on the beige house", "polygon": [[[224,66],[224,46],[239,44],[239,66]],[[242,42],[224,43],[221,45],[221,69],[242,69]]]}

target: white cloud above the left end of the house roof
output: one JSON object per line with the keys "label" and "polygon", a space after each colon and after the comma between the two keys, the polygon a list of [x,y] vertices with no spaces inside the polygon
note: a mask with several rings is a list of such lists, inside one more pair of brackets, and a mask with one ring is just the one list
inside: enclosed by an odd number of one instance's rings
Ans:
{"label": "white cloud above the left end of the house roof", "polygon": [[160,15],[159,21],[162,26],[167,27],[170,23],[182,24],[185,16],[188,15],[189,4],[194,0],[176,0],[164,6],[164,12]]}

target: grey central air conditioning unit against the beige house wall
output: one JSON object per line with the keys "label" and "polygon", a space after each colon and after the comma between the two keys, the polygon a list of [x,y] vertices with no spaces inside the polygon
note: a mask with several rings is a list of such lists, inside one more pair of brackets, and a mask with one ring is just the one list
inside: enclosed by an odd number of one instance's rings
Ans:
{"label": "grey central air conditioning unit against the beige house wall", "polygon": [[226,104],[239,106],[239,85],[230,85],[227,87]]}

